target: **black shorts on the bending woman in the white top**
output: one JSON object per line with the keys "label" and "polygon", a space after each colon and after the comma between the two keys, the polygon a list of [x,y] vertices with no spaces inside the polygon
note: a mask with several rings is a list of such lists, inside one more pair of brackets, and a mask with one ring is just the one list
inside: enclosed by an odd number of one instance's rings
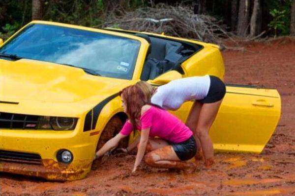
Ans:
{"label": "black shorts on the bending woman in the white top", "polygon": [[216,101],[224,98],[226,89],[225,84],[221,79],[216,76],[209,75],[210,77],[210,87],[208,94],[205,98],[198,100],[201,103],[214,103]]}

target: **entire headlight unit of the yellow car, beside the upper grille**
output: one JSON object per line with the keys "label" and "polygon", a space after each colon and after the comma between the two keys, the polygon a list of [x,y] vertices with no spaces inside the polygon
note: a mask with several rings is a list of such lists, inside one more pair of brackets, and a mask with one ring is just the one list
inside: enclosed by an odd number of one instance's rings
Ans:
{"label": "entire headlight unit of the yellow car, beside the upper grille", "polygon": [[74,130],[77,118],[40,116],[37,129]]}

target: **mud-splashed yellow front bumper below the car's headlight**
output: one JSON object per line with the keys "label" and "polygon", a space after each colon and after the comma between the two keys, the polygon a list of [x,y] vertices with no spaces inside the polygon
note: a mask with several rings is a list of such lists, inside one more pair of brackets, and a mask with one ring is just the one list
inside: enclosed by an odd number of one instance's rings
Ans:
{"label": "mud-splashed yellow front bumper below the car's headlight", "polygon": [[[73,131],[0,129],[0,152],[8,153],[8,159],[0,156],[0,172],[61,181],[85,177],[91,169],[97,137],[83,132],[80,122]],[[70,164],[58,162],[61,149],[71,151]],[[33,158],[28,159],[28,154]]]}

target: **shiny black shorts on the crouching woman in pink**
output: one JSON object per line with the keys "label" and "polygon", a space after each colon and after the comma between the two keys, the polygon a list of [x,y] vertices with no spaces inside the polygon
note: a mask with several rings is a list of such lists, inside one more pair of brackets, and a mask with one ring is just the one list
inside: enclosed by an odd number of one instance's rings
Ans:
{"label": "shiny black shorts on the crouching woman in pink", "polygon": [[168,143],[173,147],[176,155],[181,161],[193,158],[197,152],[196,140],[193,136],[180,143]]}

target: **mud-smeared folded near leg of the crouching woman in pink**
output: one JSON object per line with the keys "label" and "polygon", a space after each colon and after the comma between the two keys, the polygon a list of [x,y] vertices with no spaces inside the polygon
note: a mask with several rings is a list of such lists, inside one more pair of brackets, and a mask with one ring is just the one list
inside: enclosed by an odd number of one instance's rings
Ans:
{"label": "mud-smeared folded near leg of the crouching woman in pink", "polygon": [[156,168],[176,168],[181,170],[195,168],[193,163],[180,161],[170,145],[149,152],[144,159],[149,166]]}

